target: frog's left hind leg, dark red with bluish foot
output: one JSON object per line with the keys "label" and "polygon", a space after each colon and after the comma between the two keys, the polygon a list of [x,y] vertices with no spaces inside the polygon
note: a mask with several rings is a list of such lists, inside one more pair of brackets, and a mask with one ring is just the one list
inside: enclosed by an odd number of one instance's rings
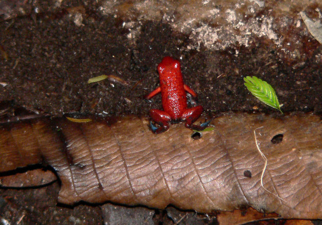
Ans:
{"label": "frog's left hind leg, dark red with bluish foot", "polygon": [[155,127],[152,121],[150,121],[149,128],[154,134],[159,134],[169,129],[169,122],[171,120],[171,116],[169,115],[169,113],[166,113],[165,111],[159,109],[151,109],[150,116],[155,123],[160,125],[160,127]]}

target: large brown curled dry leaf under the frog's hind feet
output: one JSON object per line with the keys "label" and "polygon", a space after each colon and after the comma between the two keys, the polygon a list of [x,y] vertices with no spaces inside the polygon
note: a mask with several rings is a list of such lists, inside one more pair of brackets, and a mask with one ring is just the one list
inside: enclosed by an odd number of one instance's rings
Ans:
{"label": "large brown curled dry leaf under the frog's hind feet", "polygon": [[[154,135],[146,118],[75,123],[65,118],[5,124],[0,171],[47,163],[61,180],[59,202],[111,201],[198,212],[251,206],[284,218],[322,218],[322,122],[310,114],[230,114],[198,140],[174,124]],[[267,157],[264,165],[254,140]],[[55,129],[53,129],[55,128]],[[58,129],[57,129],[58,128]],[[272,142],[279,134],[283,138]],[[245,176],[249,170],[251,176]]]}

